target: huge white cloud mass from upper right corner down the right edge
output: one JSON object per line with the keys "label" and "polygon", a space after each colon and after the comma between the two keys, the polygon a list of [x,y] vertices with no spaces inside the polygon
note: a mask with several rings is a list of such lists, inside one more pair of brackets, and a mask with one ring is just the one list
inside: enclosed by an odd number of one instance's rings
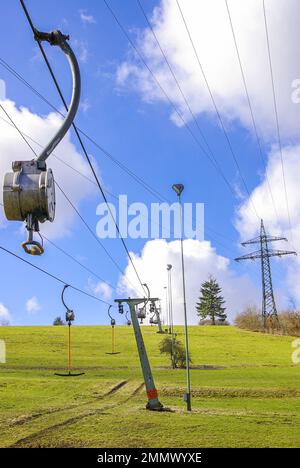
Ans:
{"label": "huge white cloud mass from upper right corner down the right edge", "polygon": [[[220,113],[231,129],[238,123],[251,132],[251,115],[238,57],[234,46],[229,17],[224,0],[179,0],[201,64]],[[286,234],[290,238],[286,197],[283,186],[283,171],[278,152],[276,119],[272,95],[263,4],[261,0],[228,0],[240,57],[246,77],[254,117],[264,148],[269,145],[267,172],[260,177],[258,186],[250,199],[238,197],[236,227],[243,240],[257,235],[259,220],[253,213],[253,203],[260,217],[264,218],[267,230],[272,234]],[[299,121],[300,105],[292,100],[293,84],[299,79],[298,61],[298,18],[300,4],[297,0],[265,1],[268,33],[271,48],[273,76],[283,145],[283,167],[286,178],[290,218],[293,228],[293,244],[300,249],[299,183],[300,170]],[[283,21],[284,18],[284,21]],[[218,123],[205,81],[199,69],[189,37],[174,0],[161,0],[151,15],[151,23],[168,61],[177,76],[181,88],[197,115],[209,116]],[[174,82],[149,28],[139,30],[136,44],[142,51],[156,78],[186,121],[192,119],[187,106]],[[146,102],[165,102],[151,74],[140,62],[137,54],[129,49],[126,60],[120,64],[117,75],[120,87],[138,92]],[[299,96],[299,90],[294,95]],[[170,108],[170,117],[176,125],[182,121]],[[292,143],[291,143],[292,142]],[[257,157],[255,155],[255,157]],[[256,164],[256,160],[253,164]],[[223,163],[222,163],[223,164]],[[268,180],[272,187],[277,214],[270,198]],[[275,247],[275,246],[274,246]],[[290,245],[278,245],[278,248]],[[289,268],[286,295],[293,293],[300,301],[296,285],[300,280],[299,259],[285,258]],[[298,273],[299,272],[299,273]]]}

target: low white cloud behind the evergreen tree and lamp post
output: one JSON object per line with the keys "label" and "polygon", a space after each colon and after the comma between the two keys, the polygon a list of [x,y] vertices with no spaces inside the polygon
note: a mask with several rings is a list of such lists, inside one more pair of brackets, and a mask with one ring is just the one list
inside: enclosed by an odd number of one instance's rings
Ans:
{"label": "low white cloud behind the evergreen tree and lamp post", "polygon": [[[167,242],[165,240],[151,240],[143,248],[141,255],[133,255],[136,268],[150,288],[152,296],[162,299],[164,306],[164,286],[167,285],[168,263],[173,265],[173,309],[174,320],[178,324],[183,323],[182,302],[182,276],[180,241]],[[229,265],[229,260],[218,255],[210,242],[194,239],[184,240],[184,257],[186,269],[186,295],[188,321],[197,323],[198,317],[195,304],[199,297],[201,283],[210,274],[215,276],[223,288],[226,299],[227,314],[232,319],[246,305],[259,302],[259,292],[248,276],[237,276]],[[129,264],[125,270],[125,276],[121,278],[118,288],[126,296],[140,295],[140,289],[134,290],[131,283],[137,284],[136,276]],[[165,312],[163,310],[163,315]]]}

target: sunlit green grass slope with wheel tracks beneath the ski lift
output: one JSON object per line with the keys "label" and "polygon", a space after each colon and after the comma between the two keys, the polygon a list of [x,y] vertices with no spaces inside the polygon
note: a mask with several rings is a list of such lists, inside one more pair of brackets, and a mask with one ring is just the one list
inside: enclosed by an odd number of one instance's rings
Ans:
{"label": "sunlit green grass slope with wheel tracks beneath the ski lift", "polygon": [[[72,327],[73,363],[86,373],[63,378],[67,327],[0,327],[1,447],[299,447],[300,365],[293,338],[235,327],[190,327],[192,413],[185,371],[143,334],[159,398],[173,412],[150,412],[132,327]],[[176,327],[183,341],[183,329]],[[205,367],[209,366],[209,367]]]}

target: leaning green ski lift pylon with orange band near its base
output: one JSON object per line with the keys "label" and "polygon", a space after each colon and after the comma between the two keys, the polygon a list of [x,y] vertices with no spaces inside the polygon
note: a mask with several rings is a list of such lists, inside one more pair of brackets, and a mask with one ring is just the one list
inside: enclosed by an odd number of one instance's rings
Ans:
{"label": "leaning green ski lift pylon with orange band near its base", "polygon": [[132,326],[134,329],[134,335],[136,339],[143,377],[144,377],[145,386],[146,386],[146,393],[148,397],[146,408],[152,411],[162,411],[163,405],[158,399],[158,393],[154,384],[154,379],[153,379],[149,359],[147,356],[147,351],[146,351],[143,335],[142,335],[140,324],[139,324],[137,314],[136,314],[136,308],[139,304],[146,305],[147,302],[156,301],[156,300],[158,299],[144,297],[144,298],[136,298],[136,299],[131,299],[131,298],[115,299],[115,302],[119,304],[119,310],[121,311],[121,313],[123,312],[123,303],[128,304],[128,307],[130,310],[131,322],[132,322]]}

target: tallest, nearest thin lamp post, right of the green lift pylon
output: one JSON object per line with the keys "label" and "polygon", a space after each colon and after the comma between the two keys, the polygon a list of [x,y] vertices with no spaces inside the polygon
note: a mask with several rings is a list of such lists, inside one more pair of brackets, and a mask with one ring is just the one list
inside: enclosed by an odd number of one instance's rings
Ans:
{"label": "tallest, nearest thin lamp post, right of the green lift pylon", "polygon": [[189,337],[188,337],[187,313],[186,313],[185,273],[184,273],[184,255],[183,255],[183,222],[182,222],[183,220],[182,220],[182,203],[181,203],[181,193],[183,192],[184,185],[173,184],[172,189],[178,196],[179,209],[180,209],[180,246],[181,246],[181,269],[182,269],[185,353],[186,353],[186,380],[187,380],[187,392],[185,394],[185,401],[186,401],[187,411],[191,411],[192,406],[191,406],[190,355],[189,355]]}

